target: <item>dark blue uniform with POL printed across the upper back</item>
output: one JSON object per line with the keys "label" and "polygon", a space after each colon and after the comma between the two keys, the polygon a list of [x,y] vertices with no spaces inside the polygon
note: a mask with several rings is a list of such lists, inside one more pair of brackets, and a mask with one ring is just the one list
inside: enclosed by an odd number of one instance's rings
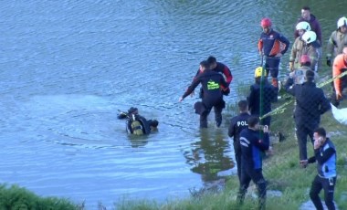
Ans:
{"label": "dark blue uniform with POL printed across the upper back", "polygon": [[228,136],[234,137],[234,152],[235,159],[237,161],[237,176],[241,183],[241,144],[240,144],[240,132],[248,127],[247,119],[250,115],[245,113],[240,113],[236,117],[232,118],[230,121]]}

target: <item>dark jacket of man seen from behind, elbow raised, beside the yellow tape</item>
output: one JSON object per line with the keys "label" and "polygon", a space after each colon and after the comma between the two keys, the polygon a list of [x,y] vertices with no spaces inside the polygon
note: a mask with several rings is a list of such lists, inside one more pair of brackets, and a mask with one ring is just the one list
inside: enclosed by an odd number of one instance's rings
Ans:
{"label": "dark jacket of man seen from behind, elbow raised, beside the yellow tape", "polygon": [[296,98],[295,121],[299,126],[306,125],[314,129],[321,122],[321,114],[331,109],[330,101],[312,81],[305,81],[301,85],[292,84],[293,79],[288,79],[285,89]]}

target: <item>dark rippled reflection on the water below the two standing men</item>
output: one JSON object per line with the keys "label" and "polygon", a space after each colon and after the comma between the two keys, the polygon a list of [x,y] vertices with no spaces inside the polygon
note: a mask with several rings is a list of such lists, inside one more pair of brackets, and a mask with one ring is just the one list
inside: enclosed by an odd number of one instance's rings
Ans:
{"label": "dark rippled reflection on the water below the two standing men", "polygon": [[208,136],[208,131],[201,133],[201,141],[193,142],[192,151],[185,152],[186,163],[192,165],[191,171],[202,175],[204,182],[219,180],[219,172],[226,171],[234,167],[230,161],[231,157],[226,156],[229,150],[229,142],[224,140],[222,134],[216,134],[212,138]]}

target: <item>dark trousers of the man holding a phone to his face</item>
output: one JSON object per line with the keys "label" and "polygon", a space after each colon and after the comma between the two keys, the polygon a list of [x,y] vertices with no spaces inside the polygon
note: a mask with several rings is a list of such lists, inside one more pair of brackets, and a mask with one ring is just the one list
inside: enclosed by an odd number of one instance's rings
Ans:
{"label": "dark trousers of the man holding a phone to his face", "polygon": [[321,189],[324,190],[325,205],[327,205],[329,210],[335,209],[335,205],[333,203],[335,184],[336,177],[327,179],[316,175],[310,187],[310,200],[313,202],[313,205],[316,206],[316,209],[323,210],[323,205],[321,204],[321,198],[319,195],[321,193]]}

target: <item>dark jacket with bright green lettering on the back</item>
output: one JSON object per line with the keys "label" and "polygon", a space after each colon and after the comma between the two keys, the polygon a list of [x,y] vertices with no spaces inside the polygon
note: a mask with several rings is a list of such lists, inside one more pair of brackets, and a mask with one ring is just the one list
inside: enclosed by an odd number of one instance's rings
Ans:
{"label": "dark jacket with bright green lettering on the back", "polygon": [[191,94],[200,83],[204,91],[203,103],[206,109],[210,109],[223,101],[221,86],[227,87],[226,80],[222,75],[213,70],[205,70],[199,74],[184,92],[182,98],[184,99]]}

